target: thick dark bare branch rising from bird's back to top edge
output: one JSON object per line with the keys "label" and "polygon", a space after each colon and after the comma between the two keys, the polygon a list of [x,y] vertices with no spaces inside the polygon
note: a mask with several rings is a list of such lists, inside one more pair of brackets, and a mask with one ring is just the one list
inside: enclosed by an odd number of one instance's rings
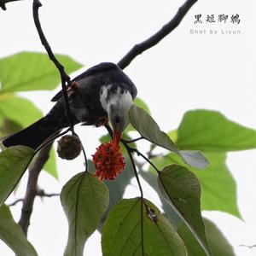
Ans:
{"label": "thick dark bare branch rising from bird's back to top edge", "polygon": [[155,44],[158,44],[160,40],[165,38],[169,33],[171,33],[183,20],[183,17],[188,13],[189,9],[196,3],[197,0],[187,0],[183,5],[178,9],[177,14],[163,26],[160,31],[156,32],[153,36],[143,41],[140,44],[136,44],[119,62],[118,66],[122,69],[129,66],[131,61],[133,61],[137,55],[142,54],[145,50],[153,47]]}

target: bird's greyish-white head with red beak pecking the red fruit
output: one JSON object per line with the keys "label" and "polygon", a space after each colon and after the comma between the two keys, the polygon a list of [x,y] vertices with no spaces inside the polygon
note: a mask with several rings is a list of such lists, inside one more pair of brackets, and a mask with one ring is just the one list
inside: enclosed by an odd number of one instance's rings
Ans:
{"label": "bird's greyish-white head with red beak pecking the red fruit", "polygon": [[113,127],[113,137],[119,138],[129,125],[129,110],[132,105],[132,97],[128,90],[117,92],[110,96],[107,102],[108,119]]}

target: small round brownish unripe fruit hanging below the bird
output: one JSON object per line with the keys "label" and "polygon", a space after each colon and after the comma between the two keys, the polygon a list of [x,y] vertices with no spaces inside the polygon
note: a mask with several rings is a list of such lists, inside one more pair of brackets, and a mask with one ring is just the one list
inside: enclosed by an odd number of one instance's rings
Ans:
{"label": "small round brownish unripe fruit hanging below the bird", "polygon": [[57,153],[62,159],[73,160],[79,156],[81,150],[82,144],[75,135],[65,135],[58,141]]}

